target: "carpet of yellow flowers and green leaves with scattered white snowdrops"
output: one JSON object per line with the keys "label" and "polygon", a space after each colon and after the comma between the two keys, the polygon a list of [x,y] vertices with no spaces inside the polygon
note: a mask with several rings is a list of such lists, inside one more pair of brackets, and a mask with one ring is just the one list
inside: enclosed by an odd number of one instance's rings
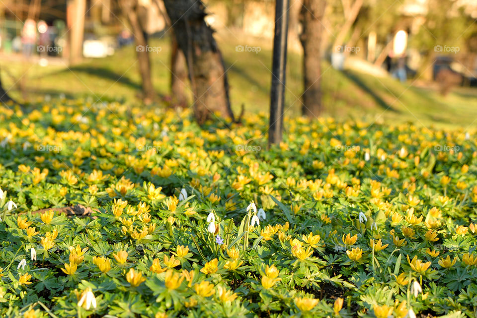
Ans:
{"label": "carpet of yellow flowers and green leaves with scattered white snowdrops", "polygon": [[476,317],[473,133],[265,127],[0,107],[0,316]]}

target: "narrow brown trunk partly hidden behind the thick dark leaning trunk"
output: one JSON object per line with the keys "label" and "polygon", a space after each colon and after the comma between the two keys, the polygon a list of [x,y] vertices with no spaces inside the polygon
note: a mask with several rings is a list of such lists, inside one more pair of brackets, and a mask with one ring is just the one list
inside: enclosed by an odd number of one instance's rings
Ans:
{"label": "narrow brown trunk partly hidden behind the thick dark leaning trunk", "polygon": [[185,107],[187,105],[187,65],[185,56],[179,50],[174,34],[171,34],[170,42],[170,93],[172,95],[172,103]]}

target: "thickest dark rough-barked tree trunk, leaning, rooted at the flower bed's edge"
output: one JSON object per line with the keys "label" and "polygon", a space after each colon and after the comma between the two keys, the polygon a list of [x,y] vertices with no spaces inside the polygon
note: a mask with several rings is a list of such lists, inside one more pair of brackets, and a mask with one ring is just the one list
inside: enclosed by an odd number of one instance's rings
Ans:
{"label": "thickest dark rough-barked tree trunk, leaning, rooted at the flower bed's edge", "polygon": [[194,95],[194,116],[199,124],[211,113],[234,119],[229,83],[222,54],[206,24],[201,0],[164,0],[179,49],[184,53]]}

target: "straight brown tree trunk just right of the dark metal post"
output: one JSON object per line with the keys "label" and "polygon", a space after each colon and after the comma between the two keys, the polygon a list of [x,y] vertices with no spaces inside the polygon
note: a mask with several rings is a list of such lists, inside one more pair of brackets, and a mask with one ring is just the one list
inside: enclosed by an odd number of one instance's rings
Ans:
{"label": "straight brown tree trunk just right of the dark metal post", "polygon": [[326,0],[303,0],[300,20],[303,31],[303,106],[302,114],[316,118],[321,113],[321,37]]}

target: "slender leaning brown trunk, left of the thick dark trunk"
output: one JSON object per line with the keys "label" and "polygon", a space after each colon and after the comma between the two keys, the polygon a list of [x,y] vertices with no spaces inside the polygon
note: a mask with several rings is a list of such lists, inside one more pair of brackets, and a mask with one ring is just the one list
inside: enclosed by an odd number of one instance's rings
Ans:
{"label": "slender leaning brown trunk, left of the thick dark trunk", "polygon": [[154,91],[151,78],[151,60],[149,58],[149,46],[147,33],[141,26],[138,18],[138,3],[131,0],[119,0],[119,6],[133,28],[134,41],[136,43],[137,59],[139,63],[139,72],[143,84],[143,100],[146,104],[153,101],[156,93]]}

